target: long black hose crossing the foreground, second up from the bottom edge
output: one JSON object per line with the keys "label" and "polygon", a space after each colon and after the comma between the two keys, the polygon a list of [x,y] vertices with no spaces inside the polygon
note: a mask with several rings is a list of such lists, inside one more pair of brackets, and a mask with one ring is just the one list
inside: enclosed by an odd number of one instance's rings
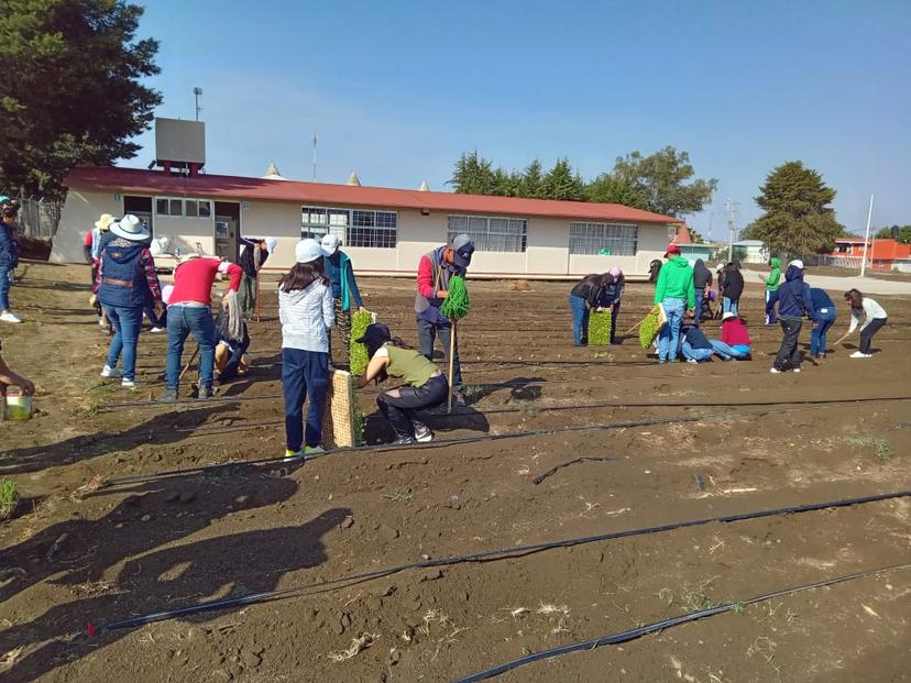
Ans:
{"label": "long black hose crossing the foreground, second up from the bottom edge", "polygon": [[308,590],[326,588],[329,586],[345,587],[364,581],[373,579],[382,579],[392,574],[398,574],[407,570],[415,569],[430,569],[435,566],[452,566],[456,564],[464,564],[470,562],[487,562],[492,560],[516,559],[525,558],[529,554],[541,552],[545,550],[553,550],[556,548],[572,548],[582,546],[584,543],[594,543],[601,541],[616,540],[621,538],[629,538],[634,536],[646,536],[650,533],[660,533],[665,531],[673,531],[676,529],[687,529],[690,527],[700,527],[709,524],[729,524],[736,521],[745,521],[748,519],[761,519],[764,517],[776,517],[779,515],[793,515],[800,513],[811,513],[822,509],[848,507],[852,505],[864,505],[867,503],[877,503],[879,500],[889,500],[892,498],[901,498],[911,496],[911,491],[900,491],[887,494],[876,494],[872,496],[861,496],[858,498],[843,498],[841,500],[828,500],[825,503],[808,503],[804,505],[792,505],[789,507],[781,507],[775,509],[757,510],[754,513],[740,513],[738,515],[727,515],[724,517],[710,517],[704,519],[694,519],[691,521],[677,521],[654,527],[640,527],[637,529],[628,529],[626,531],[612,531],[607,533],[599,533],[595,536],[582,536],[560,541],[549,541],[546,543],[535,543],[530,546],[518,546],[512,548],[501,548],[497,550],[485,550],[482,552],[467,553],[462,555],[454,555],[449,558],[441,558],[439,560],[427,560],[425,562],[411,562],[408,564],[399,564],[383,570],[374,570],[371,572],[361,572],[360,574],[352,574],[351,576],[342,576],[340,579],[329,579],[317,583],[311,583],[306,586],[289,586],[278,591],[266,591],[264,593],[254,593],[252,595],[244,595],[242,597],[228,597],[213,601],[204,601],[196,605],[171,609],[167,612],[156,612],[135,617],[128,617],[117,621],[110,621],[100,628],[90,626],[89,632],[112,631],[121,628],[135,628],[145,626],[154,621],[164,621],[174,619],[176,617],[187,616],[191,614],[199,614],[202,612],[212,612],[218,609],[226,609],[228,607],[239,607],[243,605],[252,605],[255,603],[271,602],[281,597],[290,596],[294,593],[300,593]]}

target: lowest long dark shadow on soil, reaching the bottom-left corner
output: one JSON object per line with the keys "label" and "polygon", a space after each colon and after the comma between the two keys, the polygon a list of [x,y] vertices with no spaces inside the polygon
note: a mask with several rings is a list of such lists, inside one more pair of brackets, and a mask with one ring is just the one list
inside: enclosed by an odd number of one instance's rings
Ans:
{"label": "lowest long dark shadow on soil, reaching the bottom-left corner", "polygon": [[[75,601],[0,632],[0,651],[41,642],[24,652],[11,672],[18,680],[34,680],[132,632],[123,629],[91,638],[86,636],[88,624],[275,590],[285,573],[327,561],[321,539],[348,515],[348,508],[332,508],[301,525],[231,533],[132,558],[113,581],[74,585]],[[184,621],[200,624],[221,614],[200,613]]]}

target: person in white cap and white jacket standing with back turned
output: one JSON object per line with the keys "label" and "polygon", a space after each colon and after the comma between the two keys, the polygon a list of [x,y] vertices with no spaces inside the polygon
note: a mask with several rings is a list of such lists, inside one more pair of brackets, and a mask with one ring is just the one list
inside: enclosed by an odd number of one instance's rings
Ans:
{"label": "person in white cap and white jacket standing with back turned", "polygon": [[[329,388],[329,330],[336,323],[332,286],[316,240],[301,240],[296,263],[278,285],[285,460],[322,452],[322,410]],[[307,427],[304,401],[309,397]]]}

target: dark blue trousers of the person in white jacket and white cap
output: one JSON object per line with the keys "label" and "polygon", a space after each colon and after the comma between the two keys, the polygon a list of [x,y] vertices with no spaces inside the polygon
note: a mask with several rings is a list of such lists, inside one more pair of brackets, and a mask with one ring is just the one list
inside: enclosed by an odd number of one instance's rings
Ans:
{"label": "dark blue trousers of the person in white jacket and white cap", "polygon": [[[322,409],[329,388],[329,354],[300,349],[282,349],[282,392],[285,395],[285,441],[289,451],[301,445],[319,445],[322,441]],[[304,432],[304,401],[307,408],[307,431]]]}

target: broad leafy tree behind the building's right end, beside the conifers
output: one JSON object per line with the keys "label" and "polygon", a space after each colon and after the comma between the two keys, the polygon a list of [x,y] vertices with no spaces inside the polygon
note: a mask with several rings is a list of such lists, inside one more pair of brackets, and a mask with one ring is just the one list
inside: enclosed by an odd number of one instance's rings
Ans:
{"label": "broad leafy tree behind the building's right end, beside the conifers", "polygon": [[617,157],[611,175],[645,197],[649,211],[676,217],[701,211],[718,185],[715,178],[692,179],[690,155],[671,146],[649,156],[633,152]]}

